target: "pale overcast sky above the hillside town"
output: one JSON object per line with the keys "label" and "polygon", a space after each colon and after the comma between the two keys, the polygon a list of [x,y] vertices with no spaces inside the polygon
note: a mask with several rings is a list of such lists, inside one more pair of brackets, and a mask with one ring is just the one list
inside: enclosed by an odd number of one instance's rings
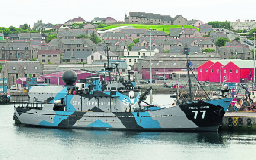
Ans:
{"label": "pale overcast sky above the hillside town", "polygon": [[27,23],[61,24],[81,16],[86,21],[95,17],[112,17],[124,21],[125,13],[146,12],[182,15],[187,20],[236,21],[255,19],[256,0],[1,0],[0,27],[19,27]]}

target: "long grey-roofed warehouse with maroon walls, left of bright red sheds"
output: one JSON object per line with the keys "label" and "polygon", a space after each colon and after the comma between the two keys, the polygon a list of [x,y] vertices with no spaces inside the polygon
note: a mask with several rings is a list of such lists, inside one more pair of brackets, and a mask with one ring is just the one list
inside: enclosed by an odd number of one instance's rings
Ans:
{"label": "long grey-roofed warehouse with maroon walls, left of bright red sheds", "polygon": [[[183,47],[182,47],[183,48]],[[184,49],[184,48],[183,48]],[[209,55],[189,54],[189,59],[193,63],[193,73],[198,74],[198,66],[207,62],[208,59],[217,59]],[[179,80],[179,75],[182,79],[187,77],[186,55],[183,53],[156,53],[151,58],[152,79],[157,79],[158,76],[164,76],[168,79]],[[142,79],[150,79],[150,56],[144,59],[142,66]]]}

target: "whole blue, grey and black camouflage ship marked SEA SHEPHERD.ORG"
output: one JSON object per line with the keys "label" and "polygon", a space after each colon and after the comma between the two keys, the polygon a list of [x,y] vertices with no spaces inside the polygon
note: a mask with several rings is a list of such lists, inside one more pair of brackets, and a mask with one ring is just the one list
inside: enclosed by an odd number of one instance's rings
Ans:
{"label": "whole blue, grey and black camouflage ship marked SEA SHEPHERD.ORG", "polygon": [[[108,80],[104,75],[87,77],[82,85],[75,86],[77,75],[67,70],[62,75],[65,86],[34,86],[29,96],[35,101],[14,105],[14,116],[23,125],[35,127],[216,132],[232,101],[232,98],[181,99],[170,107],[161,108],[143,101],[152,86],[141,95],[140,87],[130,76],[128,80],[122,77],[118,81],[111,80],[110,71],[117,66],[106,66]],[[189,63],[187,68],[189,74]],[[45,100],[39,103],[42,97]]]}

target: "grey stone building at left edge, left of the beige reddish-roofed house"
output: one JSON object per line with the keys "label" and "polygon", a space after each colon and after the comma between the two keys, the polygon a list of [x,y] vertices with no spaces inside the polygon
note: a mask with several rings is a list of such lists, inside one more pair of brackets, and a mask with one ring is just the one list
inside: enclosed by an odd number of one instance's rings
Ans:
{"label": "grey stone building at left edge, left of the beige reddish-roofed house", "polygon": [[30,60],[35,58],[35,52],[31,50],[31,41],[12,40],[0,41],[0,59],[17,61],[18,59]]}

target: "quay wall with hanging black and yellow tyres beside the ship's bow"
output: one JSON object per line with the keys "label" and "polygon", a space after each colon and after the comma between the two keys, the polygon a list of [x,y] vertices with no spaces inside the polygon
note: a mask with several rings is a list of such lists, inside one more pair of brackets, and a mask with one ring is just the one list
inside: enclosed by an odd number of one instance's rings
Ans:
{"label": "quay wall with hanging black and yellow tyres beside the ship's bow", "polygon": [[227,111],[220,124],[220,130],[256,131],[256,112]]}

